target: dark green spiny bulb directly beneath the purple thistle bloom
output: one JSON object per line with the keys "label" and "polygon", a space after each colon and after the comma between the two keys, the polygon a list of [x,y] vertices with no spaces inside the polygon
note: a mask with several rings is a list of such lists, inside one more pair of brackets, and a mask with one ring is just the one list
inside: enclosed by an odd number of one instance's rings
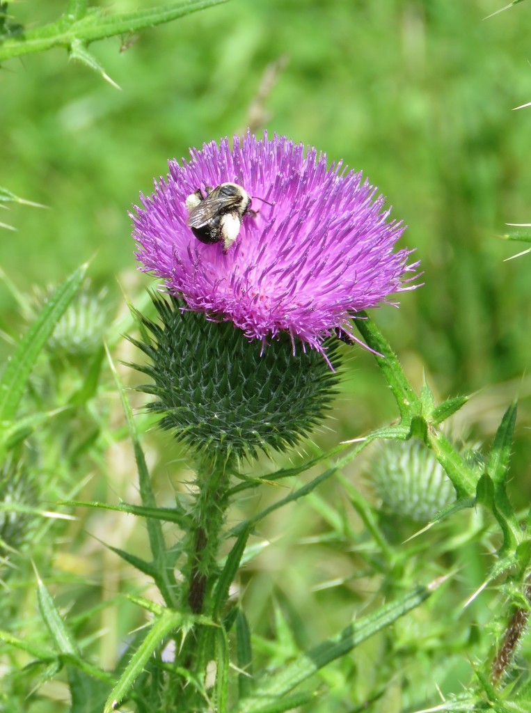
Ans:
{"label": "dark green spiny bulb directly beneath the purple thistle bloom", "polygon": [[[149,408],[164,414],[160,425],[195,451],[244,458],[282,450],[329,409],[338,376],[316,350],[297,344],[293,354],[287,334],[262,347],[232,322],[210,322],[175,298],[154,302],[162,324],[141,317],[145,342],[132,340],[150,359],[135,369],[154,382],[139,388],[157,396]],[[327,351],[334,369],[338,343]]]}

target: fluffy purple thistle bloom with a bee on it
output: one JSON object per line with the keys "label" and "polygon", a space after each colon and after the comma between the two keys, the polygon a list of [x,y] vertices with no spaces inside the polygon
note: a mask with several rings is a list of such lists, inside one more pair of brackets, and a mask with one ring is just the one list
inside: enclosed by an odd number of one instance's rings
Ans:
{"label": "fluffy purple thistle bloom with a bee on it", "polygon": [[[141,269],[166,280],[170,293],[210,319],[230,320],[249,339],[288,332],[324,354],[332,334],[355,339],[351,317],[413,289],[418,262],[393,252],[404,226],[388,220],[384,198],[361,173],[326,169],[326,156],[284,136],[227,138],[169,162],[167,179],[140,195],[133,237]],[[237,183],[258,212],[246,212],[234,245],[197,240],[186,199],[197,189]],[[391,302],[391,304],[394,304]]]}

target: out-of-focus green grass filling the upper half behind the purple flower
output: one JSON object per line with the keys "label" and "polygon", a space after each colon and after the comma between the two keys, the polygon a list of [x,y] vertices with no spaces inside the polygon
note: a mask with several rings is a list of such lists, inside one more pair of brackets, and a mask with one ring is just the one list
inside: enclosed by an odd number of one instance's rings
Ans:
{"label": "out-of-focus green grass filling the upper half behind the purple flower", "polygon": [[[63,6],[10,7],[31,25]],[[531,101],[531,4],[485,19],[499,7],[232,0],[93,45],[121,91],[60,49],[9,61],[0,185],[48,210],[2,213],[17,232],[0,233],[1,267],[29,290],[95,256],[96,284],[121,300],[118,276],[134,299],[150,280],[135,272],[127,212],[168,158],[249,124],[315,145],[364,170],[408,225],[424,285],[376,315],[408,376],[441,397],[480,390],[463,419],[485,439],[519,395],[516,490],[530,488],[531,258],[503,262],[520,245],[498,238],[505,222],[531,222],[531,108],[512,111]],[[16,331],[6,287],[0,308]],[[395,416],[371,356],[352,349],[348,361],[341,437]]]}

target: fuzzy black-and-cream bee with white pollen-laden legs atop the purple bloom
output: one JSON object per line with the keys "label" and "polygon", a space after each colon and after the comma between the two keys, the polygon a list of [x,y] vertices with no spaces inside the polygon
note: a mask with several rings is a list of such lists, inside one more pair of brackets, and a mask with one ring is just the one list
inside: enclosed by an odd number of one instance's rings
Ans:
{"label": "fuzzy black-and-cream bee with white pollen-laden legs atop the purple bloom", "polygon": [[187,225],[197,240],[212,244],[223,242],[223,252],[227,252],[239,235],[244,215],[257,215],[251,210],[251,197],[237,183],[222,183],[216,188],[207,185],[207,196],[200,188],[186,199],[190,212]]}

